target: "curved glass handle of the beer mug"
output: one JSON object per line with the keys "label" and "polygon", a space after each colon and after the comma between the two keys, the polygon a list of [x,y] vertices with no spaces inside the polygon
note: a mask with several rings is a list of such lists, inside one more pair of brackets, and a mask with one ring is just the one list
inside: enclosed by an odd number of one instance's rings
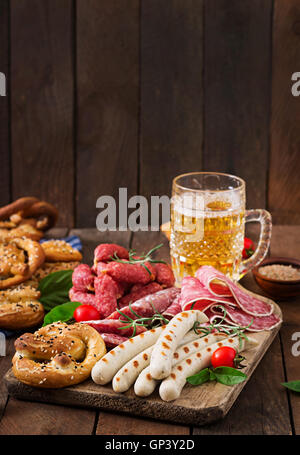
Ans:
{"label": "curved glass handle of the beer mug", "polygon": [[260,236],[253,255],[241,262],[240,278],[263,261],[268,252],[272,235],[272,216],[267,210],[246,210],[245,222],[259,222]]}

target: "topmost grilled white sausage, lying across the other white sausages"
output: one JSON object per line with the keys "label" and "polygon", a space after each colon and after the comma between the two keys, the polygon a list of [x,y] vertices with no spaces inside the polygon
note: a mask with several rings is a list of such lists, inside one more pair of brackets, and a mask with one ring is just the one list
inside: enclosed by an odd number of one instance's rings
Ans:
{"label": "topmost grilled white sausage, lying across the other white sausages", "polygon": [[154,379],[164,379],[169,376],[173,354],[180,340],[196,321],[207,322],[208,318],[199,310],[189,310],[183,311],[171,319],[155,343],[151,355],[150,373]]}

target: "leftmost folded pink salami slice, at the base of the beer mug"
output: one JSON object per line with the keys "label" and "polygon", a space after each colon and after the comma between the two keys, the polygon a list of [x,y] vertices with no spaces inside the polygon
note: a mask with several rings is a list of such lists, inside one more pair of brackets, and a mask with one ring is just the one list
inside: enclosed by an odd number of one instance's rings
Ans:
{"label": "leftmost folded pink salami slice, at the base of the beer mug", "polygon": [[197,278],[191,276],[183,278],[180,298],[182,311],[190,309],[205,311],[215,302],[236,305],[232,297],[217,297],[206,289]]}

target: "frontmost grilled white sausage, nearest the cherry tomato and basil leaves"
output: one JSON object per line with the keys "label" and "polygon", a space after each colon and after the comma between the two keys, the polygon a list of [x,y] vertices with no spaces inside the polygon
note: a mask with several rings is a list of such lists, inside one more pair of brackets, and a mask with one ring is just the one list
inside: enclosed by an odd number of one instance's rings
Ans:
{"label": "frontmost grilled white sausage, nearest the cherry tomato and basil leaves", "polygon": [[164,401],[176,400],[186,384],[186,378],[207,368],[210,365],[211,355],[216,349],[221,346],[231,346],[240,352],[257,344],[253,338],[248,337],[248,340],[242,339],[240,346],[238,337],[229,337],[185,358],[172,368],[170,376],[161,383],[159,388],[161,399]]}

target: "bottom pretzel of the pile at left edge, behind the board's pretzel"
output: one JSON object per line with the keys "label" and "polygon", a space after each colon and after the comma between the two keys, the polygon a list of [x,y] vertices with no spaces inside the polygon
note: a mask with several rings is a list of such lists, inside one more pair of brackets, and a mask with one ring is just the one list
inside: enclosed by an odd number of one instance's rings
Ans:
{"label": "bottom pretzel of the pile at left edge, behind the board's pretzel", "polygon": [[0,291],[0,328],[18,330],[40,324],[44,308],[39,297],[40,292],[31,286]]}

